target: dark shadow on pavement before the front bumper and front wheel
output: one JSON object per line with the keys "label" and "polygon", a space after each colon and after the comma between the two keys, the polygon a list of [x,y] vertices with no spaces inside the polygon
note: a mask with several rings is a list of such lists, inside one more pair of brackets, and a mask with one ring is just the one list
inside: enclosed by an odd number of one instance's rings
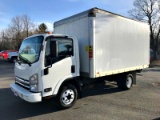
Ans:
{"label": "dark shadow on pavement before the front bumper and front wheel", "polygon": [[14,96],[9,88],[0,89],[0,119],[17,120],[59,111],[54,100],[28,103]]}

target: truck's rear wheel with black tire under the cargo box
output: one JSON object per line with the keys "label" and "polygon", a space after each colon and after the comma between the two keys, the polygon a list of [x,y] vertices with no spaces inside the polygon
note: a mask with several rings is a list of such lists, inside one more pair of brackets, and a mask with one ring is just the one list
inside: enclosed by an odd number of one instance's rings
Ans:
{"label": "truck's rear wheel with black tire under the cargo box", "polygon": [[129,90],[132,88],[133,84],[133,75],[127,74],[122,75],[119,80],[117,80],[117,85],[122,90]]}

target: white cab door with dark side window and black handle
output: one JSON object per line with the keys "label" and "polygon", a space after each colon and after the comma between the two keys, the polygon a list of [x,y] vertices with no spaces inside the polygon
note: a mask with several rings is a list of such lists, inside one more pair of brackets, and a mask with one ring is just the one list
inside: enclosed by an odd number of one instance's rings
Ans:
{"label": "white cab door with dark side window and black handle", "polygon": [[46,39],[44,75],[42,77],[43,97],[53,94],[56,85],[76,73],[73,40],[48,37]]}

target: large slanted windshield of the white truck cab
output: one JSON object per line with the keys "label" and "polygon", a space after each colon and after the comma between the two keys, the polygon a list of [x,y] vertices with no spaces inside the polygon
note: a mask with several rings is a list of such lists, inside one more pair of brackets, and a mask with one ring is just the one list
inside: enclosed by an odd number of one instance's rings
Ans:
{"label": "large slanted windshield of the white truck cab", "polygon": [[39,60],[43,36],[25,39],[19,49],[18,61],[32,64]]}

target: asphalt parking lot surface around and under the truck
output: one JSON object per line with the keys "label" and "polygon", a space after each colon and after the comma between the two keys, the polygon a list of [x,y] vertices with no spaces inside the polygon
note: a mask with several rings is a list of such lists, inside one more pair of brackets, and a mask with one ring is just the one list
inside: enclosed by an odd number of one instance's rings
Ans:
{"label": "asphalt parking lot surface around and under the truck", "polygon": [[137,74],[137,85],[121,91],[114,82],[89,85],[83,98],[67,110],[53,99],[28,103],[14,96],[14,64],[0,60],[0,120],[159,120],[160,68]]}

